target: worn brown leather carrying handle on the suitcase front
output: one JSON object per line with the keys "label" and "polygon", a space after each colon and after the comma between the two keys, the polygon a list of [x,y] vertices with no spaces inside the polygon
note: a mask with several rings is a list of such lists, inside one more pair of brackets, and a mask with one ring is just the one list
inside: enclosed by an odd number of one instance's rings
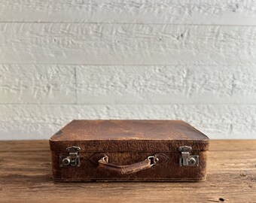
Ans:
{"label": "worn brown leather carrying handle on the suitcase front", "polygon": [[157,162],[158,162],[158,158],[156,156],[148,156],[148,158],[142,162],[136,162],[131,165],[117,165],[114,163],[109,163],[108,156],[105,155],[104,157],[99,159],[98,168],[101,168],[101,169],[104,169],[107,171],[113,171],[118,174],[133,174],[138,171],[142,171],[147,168],[151,168]]}

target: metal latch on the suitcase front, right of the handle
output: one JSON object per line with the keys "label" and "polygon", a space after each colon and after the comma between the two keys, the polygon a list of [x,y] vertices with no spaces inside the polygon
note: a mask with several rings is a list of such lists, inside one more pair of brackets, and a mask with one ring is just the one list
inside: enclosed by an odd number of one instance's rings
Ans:
{"label": "metal latch on the suitcase front, right of the handle", "polygon": [[192,147],[178,147],[178,150],[181,152],[181,156],[179,158],[180,166],[198,166],[199,165],[199,156],[198,155],[190,155],[190,151]]}

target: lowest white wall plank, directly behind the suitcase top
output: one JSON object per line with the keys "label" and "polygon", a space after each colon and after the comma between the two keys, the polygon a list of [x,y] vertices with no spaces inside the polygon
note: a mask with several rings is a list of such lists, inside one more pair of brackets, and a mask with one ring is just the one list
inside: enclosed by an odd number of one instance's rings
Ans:
{"label": "lowest white wall plank, directly behind the suitcase top", "polygon": [[[254,139],[255,105],[0,105],[0,139],[47,139],[74,119],[184,120],[209,138]],[[248,125],[250,123],[250,125]]]}

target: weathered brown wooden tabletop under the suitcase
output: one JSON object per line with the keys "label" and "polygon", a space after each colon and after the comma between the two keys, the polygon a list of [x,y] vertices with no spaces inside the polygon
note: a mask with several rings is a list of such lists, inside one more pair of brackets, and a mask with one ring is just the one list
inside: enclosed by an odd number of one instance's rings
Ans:
{"label": "weathered brown wooden tabletop under the suitcase", "polygon": [[54,183],[48,141],[0,146],[0,202],[256,202],[256,140],[211,141],[197,183]]}

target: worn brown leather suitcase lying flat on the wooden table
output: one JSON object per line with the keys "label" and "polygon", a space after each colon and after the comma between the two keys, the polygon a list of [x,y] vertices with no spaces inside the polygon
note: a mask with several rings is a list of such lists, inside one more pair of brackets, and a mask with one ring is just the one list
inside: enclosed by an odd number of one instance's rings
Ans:
{"label": "worn brown leather suitcase lying flat on the wooden table", "polygon": [[50,138],[57,181],[205,180],[208,148],[180,120],[73,120]]}

